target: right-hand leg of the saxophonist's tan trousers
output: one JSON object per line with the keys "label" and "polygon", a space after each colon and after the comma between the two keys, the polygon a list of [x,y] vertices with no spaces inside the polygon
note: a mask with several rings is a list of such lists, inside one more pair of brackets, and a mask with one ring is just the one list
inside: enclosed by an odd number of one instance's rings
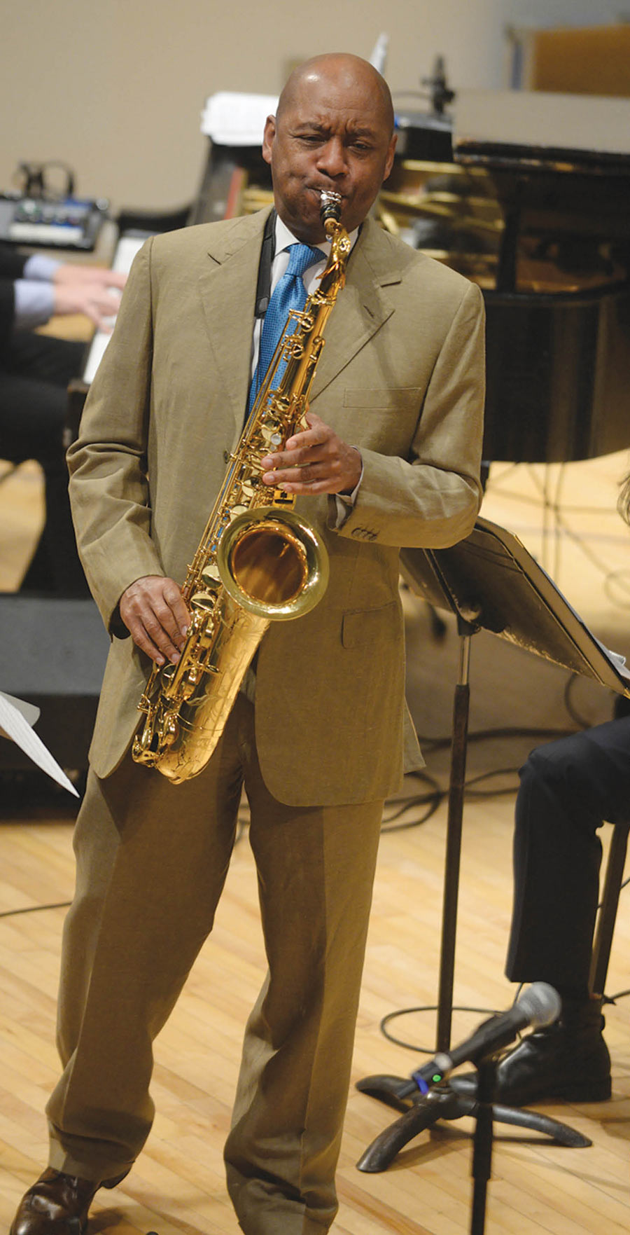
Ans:
{"label": "right-hand leg of the saxophonist's tan trousers", "polygon": [[253,751],[246,790],[269,972],[245,1036],[227,1186],[247,1235],[309,1235],[337,1208],[382,803],[285,806]]}

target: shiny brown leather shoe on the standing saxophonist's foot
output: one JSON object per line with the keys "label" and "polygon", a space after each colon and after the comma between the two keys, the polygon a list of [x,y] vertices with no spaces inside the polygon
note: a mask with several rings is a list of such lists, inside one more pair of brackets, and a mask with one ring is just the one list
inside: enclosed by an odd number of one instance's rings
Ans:
{"label": "shiny brown leather shoe on the standing saxophonist's foot", "polygon": [[9,1235],[82,1235],[99,1188],[115,1188],[125,1178],[95,1183],[47,1167],[22,1197]]}

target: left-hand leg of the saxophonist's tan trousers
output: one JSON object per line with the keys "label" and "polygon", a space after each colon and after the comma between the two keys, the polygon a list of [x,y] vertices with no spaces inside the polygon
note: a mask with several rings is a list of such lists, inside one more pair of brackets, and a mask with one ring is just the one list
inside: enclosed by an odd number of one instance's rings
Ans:
{"label": "left-hand leg of the saxophonist's tan trousers", "polygon": [[62,955],[65,1067],[47,1107],[51,1166],[67,1174],[117,1176],[148,1135],[152,1042],[211,929],[233,844],[233,715],[208,768],[185,784],[128,756],[104,782],[90,773]]}

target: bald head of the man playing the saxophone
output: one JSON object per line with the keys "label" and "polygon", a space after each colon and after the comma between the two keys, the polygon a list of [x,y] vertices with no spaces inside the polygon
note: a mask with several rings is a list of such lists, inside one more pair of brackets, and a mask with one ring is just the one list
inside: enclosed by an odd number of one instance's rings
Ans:
{"label": "bald head of the man playing the saxophone", "polygon": [[322,190],[338,193],[348,232],[363,222],[392,170],[392,96],[380,73],[345,52],[315,56],[296,68],[264,126],[275,209],[298,240],[324,238]]}

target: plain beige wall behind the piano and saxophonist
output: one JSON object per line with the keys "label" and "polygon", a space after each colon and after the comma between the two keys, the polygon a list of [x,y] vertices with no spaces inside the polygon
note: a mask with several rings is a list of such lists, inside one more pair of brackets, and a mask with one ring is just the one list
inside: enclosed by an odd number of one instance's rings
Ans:
{"label": "plain beige wall behind the piano and saxophonist", "polygon": [[320,0],[309,10],[285,0],[0,0],[0,189],[21,159],[57,158],[85,196],[175,206],[196,193],[199,115],[216,90],[274,94],[292,62],[329,49],[369,57],[383,30],[393,91],[416,90],[439,53],[453,85],[499,86],[506,22],[574,25],[618,11],[614,0]]}

